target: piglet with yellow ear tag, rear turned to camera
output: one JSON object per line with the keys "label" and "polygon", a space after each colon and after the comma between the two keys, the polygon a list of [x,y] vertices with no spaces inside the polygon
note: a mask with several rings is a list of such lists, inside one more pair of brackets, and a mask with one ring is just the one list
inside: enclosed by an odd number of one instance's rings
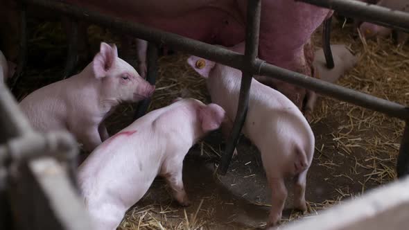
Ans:
{"label": "piglet with yellow ear tag, rear turned to camera", "polygon": [[[244,44],[230,49],[243,53]],[[222,131],[227,138],[236,117],[241,71],[195,56],[187,62],[207,79],[212,102],[225,109],[229,120],[222,124]],[[315,138],[302,112],[279,91],[253,79],[243,133],[260,150],[272,189],[268,226],[281,220],[287,197],[286,176],[294,177],[295,208],[305,211],[306,174],[313,159]]]}

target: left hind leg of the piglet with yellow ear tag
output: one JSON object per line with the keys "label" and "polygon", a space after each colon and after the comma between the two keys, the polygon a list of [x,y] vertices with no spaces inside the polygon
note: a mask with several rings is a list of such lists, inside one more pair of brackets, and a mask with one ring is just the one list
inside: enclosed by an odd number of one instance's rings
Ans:
{"label": "left hind leg of the piglet with yellow ear tag", "polygon": [[274,226],[281,220],[284,204],[287,199],[287,188],[284,184],[284,178],[268,176],[268,182],[271,187],[271,211],[268,217],[268,227]]}

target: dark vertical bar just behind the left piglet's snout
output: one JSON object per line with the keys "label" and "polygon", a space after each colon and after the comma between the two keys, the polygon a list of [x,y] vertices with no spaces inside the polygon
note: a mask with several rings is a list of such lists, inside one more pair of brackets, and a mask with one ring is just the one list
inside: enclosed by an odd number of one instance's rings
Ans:
{"label": "dark vertical bar just behind the left piglet's snout", "polygon": [[[148,44],[148,51],[146,51],[148,56],[148,74],[146,76],[146,81],[149,82],[150,85],[155,85],[156,77],[157,77],[157,57],[159,49],[157,48],[157,44],[149,42]],[[141,116],[145,115],[146,111],[148,110],[151,98],[146,98],[142,100],[137,108],[137,112],[135,113],[134,120],[140,118]]]}

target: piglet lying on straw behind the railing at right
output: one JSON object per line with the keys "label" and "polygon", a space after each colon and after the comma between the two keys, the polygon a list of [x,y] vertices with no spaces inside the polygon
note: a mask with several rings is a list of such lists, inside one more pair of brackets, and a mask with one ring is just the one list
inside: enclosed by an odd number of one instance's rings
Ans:
{"label": "piglet lying on straw behind the railing at right", "polygon": [[[315,78],[324,80],[326,82],[335,83],[345,72],[352,69],[358,58],[355,57],[344,44],[333,44],[331,45],[331,51],[333,55],[334,67],[333,69],[327,68],[327,62],[325,60],[324,51],[320,48],[315,51],[315,57],[313,60],[314,75]],[[311,91],[307,95],[308,100],[306,100],[304,116],[308,121],[313,118],[313,110],[315,102],[317,101],[317,94]]]}

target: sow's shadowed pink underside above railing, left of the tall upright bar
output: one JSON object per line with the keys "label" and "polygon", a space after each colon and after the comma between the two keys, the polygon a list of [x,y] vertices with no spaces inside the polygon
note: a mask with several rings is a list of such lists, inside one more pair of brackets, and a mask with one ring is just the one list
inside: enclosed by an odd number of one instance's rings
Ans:
{"label": "sow's shadowed pink underside above railing, left of the tall upright bar", "polygon": [[231,0],[67,0],[106,15],[135,21],[210,44],[233,46],[245,37],[244,16]]}

